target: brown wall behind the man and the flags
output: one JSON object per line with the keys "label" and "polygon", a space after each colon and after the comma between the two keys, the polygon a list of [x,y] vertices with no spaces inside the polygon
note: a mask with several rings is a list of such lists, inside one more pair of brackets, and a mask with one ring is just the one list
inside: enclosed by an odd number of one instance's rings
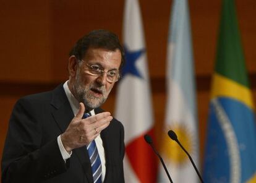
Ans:
{"label": "brown wall behind the man and the flags", "polygon": [[[189,3],[197,74],[200,152],[203,153],[221,1],[191,0]],[[255,98],[256,1],[237,0],[236,5]],[[124,1],[120,0],[0,2],[0,154],[15,101],[20,96],[49,90],[65,81],[69,49],[90,30],[105,28],[122,37],[123,6]],[[164,77],[171,1],[140,0],[140,6],[153,89],[156,133],[160,134],[166,100]],[[104,108],[111,112],[114,112],[114,93],[104,104]]]}

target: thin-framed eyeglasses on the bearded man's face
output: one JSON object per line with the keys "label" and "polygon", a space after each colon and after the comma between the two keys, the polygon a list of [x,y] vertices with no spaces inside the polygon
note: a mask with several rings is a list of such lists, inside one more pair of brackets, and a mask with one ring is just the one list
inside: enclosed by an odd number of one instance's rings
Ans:
{"label": "thin-framed eyeglasses on the bearded man's face", "polygon": [[[83,61],[83,60],[81,60],[81,61]],[[106,80],[109,83],[117,82],[117,80],[119,80],[119,78],[120,78],[118,70],[105,71],[102,67],[100,67],[97,64],[86,64],[86,66],[88,67],[88,69],[85,70],[85,72],[90,75],[100,76],[100,75],[103,75],[104,72],[106,72],[106,76],[107,76]]]}

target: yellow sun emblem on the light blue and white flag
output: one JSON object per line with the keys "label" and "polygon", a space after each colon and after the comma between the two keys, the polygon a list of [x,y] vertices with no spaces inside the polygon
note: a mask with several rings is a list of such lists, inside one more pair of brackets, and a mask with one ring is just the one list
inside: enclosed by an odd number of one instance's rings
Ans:
{"label": "yellow sun emblem on the light blue and white flag", "polygon": [[189,158],[187,157],[186,153],[182,151],[181,147],[174,141],[169,138],[167,135],[168,130],[173,130],[177,134],[177,138],[179,142],[183,145],[183,147],[189,152],[190,155],[193,154],[195,151],[195,143],[191,132],[186,124],[182,123],[175,123],[172,126],[168,126],[166,128],[166,135],[164,135],[163,139],[163,155],[166,157],[167,161],[170,163],[174,163],[177,166],[182,166],[189,162]]}

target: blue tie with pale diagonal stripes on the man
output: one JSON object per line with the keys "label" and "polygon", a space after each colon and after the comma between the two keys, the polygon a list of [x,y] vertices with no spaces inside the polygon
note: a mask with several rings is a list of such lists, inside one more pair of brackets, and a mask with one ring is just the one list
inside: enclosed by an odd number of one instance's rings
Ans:
{"label": "blue tie with pale diagonal stripes on the man", "polygon": [[[83,114],[83,118],[89,117],[89,113]],[[88,155],[90,157],[92,173],[93,173],[93,182],[101,183],[101,161],[98,149],[96,147],[95,140],[89,143],[87,146]]]}

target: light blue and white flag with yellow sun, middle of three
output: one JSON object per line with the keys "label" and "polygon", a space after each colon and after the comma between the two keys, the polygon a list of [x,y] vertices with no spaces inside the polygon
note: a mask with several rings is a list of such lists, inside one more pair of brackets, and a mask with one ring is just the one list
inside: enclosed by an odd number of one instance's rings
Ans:
{"label": "light blue and white flag with yellow sun, middle of three", "polygon": [[[162,153],[173,182],[198,182],[189,158],[168,135],[176,132],[179,141],[192,156],[197,167],[198,133],[195,103],[194,61],[190,35],[189,7],[187,0],[174,0],[169,27],[167,56],[168,100]],[[160,168],[159,182],[168,182]]]}

